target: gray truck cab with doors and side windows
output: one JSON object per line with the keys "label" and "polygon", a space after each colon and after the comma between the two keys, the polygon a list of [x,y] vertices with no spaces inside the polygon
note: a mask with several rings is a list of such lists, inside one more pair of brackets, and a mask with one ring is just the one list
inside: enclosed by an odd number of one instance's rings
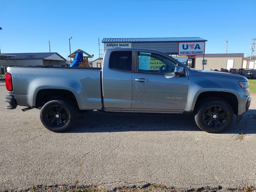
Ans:
{"label": "gray truck cab with doors and side windows", "polygon": [[[175,68],[183,67],[176,75]],[[102,68],[105,110],[183,112],[188,94],[188,69],[153,50],[107,50]]]}

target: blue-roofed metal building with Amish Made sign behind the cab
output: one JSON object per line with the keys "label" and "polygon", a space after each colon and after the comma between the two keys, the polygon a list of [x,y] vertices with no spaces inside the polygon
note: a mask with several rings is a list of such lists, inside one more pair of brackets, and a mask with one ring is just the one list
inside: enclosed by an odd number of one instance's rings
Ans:
{"label": "blue-roofed metal building with Amish Made sign behind the cab", "polygon": [[169,55],[178,54],[179,43],[206,42],[200,37],[176,38],[104,38],[104,50],[109,48],[146,48],[165,52]]}

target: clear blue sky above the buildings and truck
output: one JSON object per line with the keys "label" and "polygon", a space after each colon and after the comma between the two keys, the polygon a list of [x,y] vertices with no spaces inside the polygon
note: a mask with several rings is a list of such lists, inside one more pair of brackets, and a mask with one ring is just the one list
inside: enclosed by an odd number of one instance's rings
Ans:
{"label": "clear blue sky above the buildings and truck", "polygon": [[[250,8],[253,8],[250,10]],[[2,53],[82,49],[98,58],[98,38],[201,37],[205,53],[250,54],[255,0],[0,0]],[[103,52],[102,52],[103,53]]]}

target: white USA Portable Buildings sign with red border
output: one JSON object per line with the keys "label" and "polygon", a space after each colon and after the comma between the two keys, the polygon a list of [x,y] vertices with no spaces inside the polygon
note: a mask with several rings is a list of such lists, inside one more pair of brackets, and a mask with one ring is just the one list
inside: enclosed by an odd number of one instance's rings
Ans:
{"label": "white USA Portable Buildings sign with red border", "polygon": [[204,55],[205,42],[178,42],[178,55]]}

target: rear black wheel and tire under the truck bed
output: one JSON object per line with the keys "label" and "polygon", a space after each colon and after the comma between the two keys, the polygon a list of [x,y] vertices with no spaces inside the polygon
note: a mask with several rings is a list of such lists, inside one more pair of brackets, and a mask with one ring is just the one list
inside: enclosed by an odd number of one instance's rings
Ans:
{"label": "rear black wheel and tire under the truck bed", "polygon": [[76,107],[64,100],[51,100],[40,111],[42,124],[53,132],[64,132],[72,128],[76,116]]}

